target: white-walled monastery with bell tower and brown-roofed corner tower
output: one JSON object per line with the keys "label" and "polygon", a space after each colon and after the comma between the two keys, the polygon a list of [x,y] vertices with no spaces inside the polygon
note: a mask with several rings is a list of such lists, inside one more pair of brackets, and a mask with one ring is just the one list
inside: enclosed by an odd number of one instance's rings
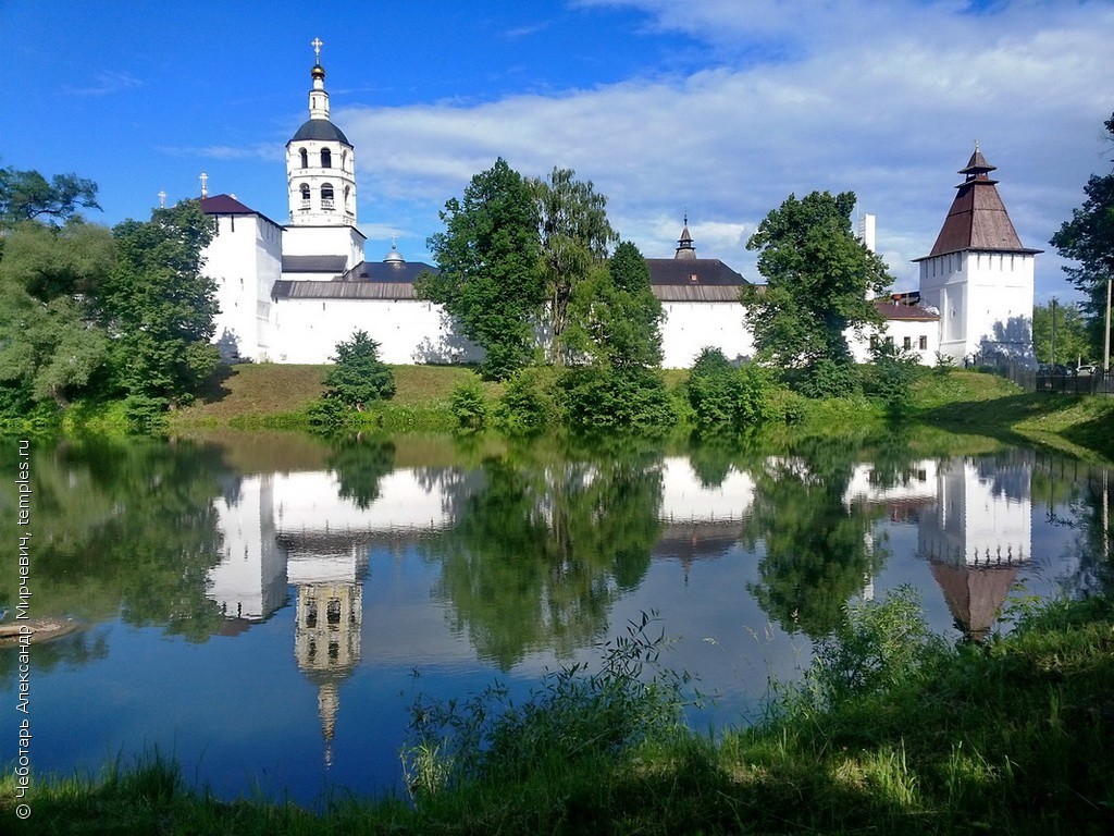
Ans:
{"label": "white-walled monastery with bell tower and brown-roofed corner tower", "polygon": [[[216,220],[205,270],[217,283],[216,342],[226,360],[323,363],[355,330],[380,344],[389,363],[481,359],[438,304],[419,299],[414,280],[431,264],[408,262],[394,245],[380,261],[364,255],[358,227],[355,148],[329,117],[321,41],[314,40],[309,119],[286,144],[290,216],[277,223],[227,194],[202,208]],[[978,147],[959,171],[931,252],[916,261],[920,289],[876,300],[886,319],[872,339],[893,340],[921,362],[938,352],[957,363],[1032,361],[1034,257],[1022,245]],[[872,234],[864,235],[872,246]],[[665,312],[663,366],[687,368],[712,346],[731,359],[754,353],[739,301],[747,281],[719,259],[697,257],[688,218],[673,259],[647,259]],[[869,342],[852,340],[856,359]]]}

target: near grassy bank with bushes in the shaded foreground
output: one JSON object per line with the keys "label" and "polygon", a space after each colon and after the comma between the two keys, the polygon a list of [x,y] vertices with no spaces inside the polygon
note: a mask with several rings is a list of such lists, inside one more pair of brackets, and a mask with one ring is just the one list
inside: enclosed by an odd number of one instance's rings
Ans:
{"label": "near grassy bank with bushes in the shaded foreground", "polygon": [[[632,635],[635,635],[632,633]],[[620,650],[624,645],[616,645]],[[320,813],[219,800],[157,756],[97,779],[36,776],[33,834],[1100,834],[1114,828],[1114,607],[1019,616],[949,647],[899,594],[850,612],[802,686],[716,740],[676,722],[683,682],[637,678],[635,638],[602,671],[547,680],[515,711],[480,698],[421,728],[416,804],[352,797]],[[625,653],[625,655],[623,655]],[[626,661],[624,661],[624,659]],[[496,700],[497,701],[497,700]],[[444,707],[422,706],[444,720]],[[480,716],[479,711],[486,711]],[[440,712],[440,713],[439,713]],[[440,731],[439,731],[440,730]]]}

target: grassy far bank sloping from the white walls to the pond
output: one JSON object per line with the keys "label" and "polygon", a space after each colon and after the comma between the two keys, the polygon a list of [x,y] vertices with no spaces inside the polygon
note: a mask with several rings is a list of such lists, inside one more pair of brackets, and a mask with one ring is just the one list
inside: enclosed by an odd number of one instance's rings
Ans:
{"label": "grassy far bank sloping from the white walls to the pond", "polygon": [[[227,368],[196,404],[169,417],[172,434],[218,429],[304,429],[305,410],[320,397],[329,366],[247,363]],[[471,379],[463,367],[395,366],[395,395],[370,406],[363,419],[369,428],[389,432],[450,431],[456,417],[452,390]],[[675,390],[684,371],[666,372]],[[481,383],[495,404],[499,383]],[[778,410],[791,411],[794,431],[844,434],[886,431],[892,424],[886,409],[863,397],[815,401],[774,393]],[[1026,439],[1042,446],[1094,459],[1114,460],[1114,398],[1049,392],[1024,392],[994,375],[955,370],[926,373],[915,382],[906,424],[925,424],[957,432]]]}

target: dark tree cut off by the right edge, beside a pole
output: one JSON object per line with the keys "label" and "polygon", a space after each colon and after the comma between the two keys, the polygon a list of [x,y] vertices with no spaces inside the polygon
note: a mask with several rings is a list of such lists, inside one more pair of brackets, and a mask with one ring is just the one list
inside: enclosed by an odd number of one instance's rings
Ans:
{"label": "dark tree cut off by the right edge, beside a pole", "polygon": [[[1114,139],[1114,114],[1103,125]],[[1072,220],[1061,225],[1051,243],[1062,256],[1078,262],[1078,266],[1065,266],[1064,272],[1086,295],[1083,307],[1092,340],[1086,353],[1098,357],[1106,328],[1106,282],[1114,279],[1114,173],[1092,175],[1083,192],[1087,200],[1072,212]]]}

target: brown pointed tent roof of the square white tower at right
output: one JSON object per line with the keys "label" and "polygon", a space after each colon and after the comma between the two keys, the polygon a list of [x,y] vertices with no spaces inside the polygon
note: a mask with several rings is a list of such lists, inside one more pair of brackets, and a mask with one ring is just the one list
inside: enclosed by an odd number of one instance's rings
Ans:
{"label": "brown pointed tent roof of the square white tower at right", "polygon": [[948,216],[932,245],[932,251],[922,259],[913,261],[965,250],[1042,252],[1022,245],[1001,197],[998,196],[996,187],[998,181],[987,176],[994,169],[995,167],[987,163],[983,153],[976,148],[966,167],[959,169],[960,174],[967,175],[967,179],[956,186],[958,189],[956,197],[951,202],[951,208],[948,210]]}

